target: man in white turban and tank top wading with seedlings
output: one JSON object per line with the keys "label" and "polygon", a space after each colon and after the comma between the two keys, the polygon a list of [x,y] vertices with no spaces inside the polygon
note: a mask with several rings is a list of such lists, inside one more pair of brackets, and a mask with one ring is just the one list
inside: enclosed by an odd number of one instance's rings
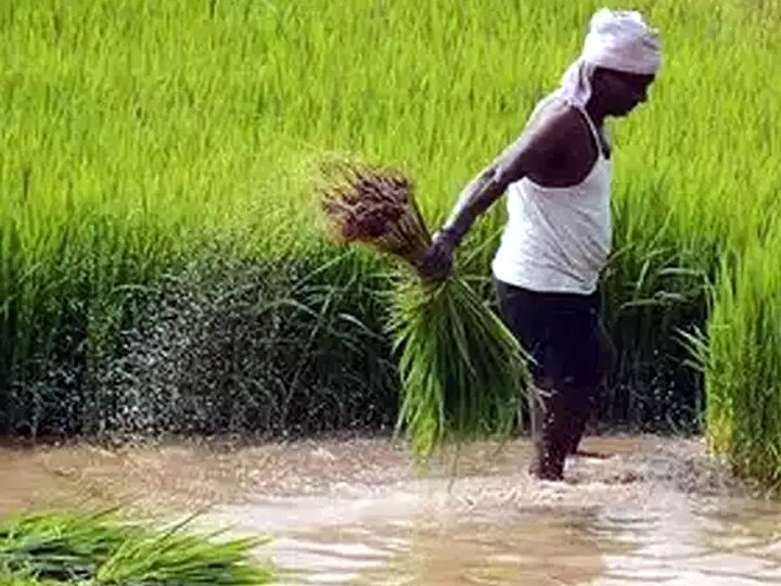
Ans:
{"label": "man in white turban and tank top wading with seedlings", "polygon": [[499,306],[533,357],[532,473],[563,477],[612,368],[601,324],[600,273],[611,251],[609,116],[646,100],[661,65],[655,30],[633,11],[597,11],[579,58],[521,136],[473,179],[421,265],[444,278],[477,217],[508,192],[492,262]]}

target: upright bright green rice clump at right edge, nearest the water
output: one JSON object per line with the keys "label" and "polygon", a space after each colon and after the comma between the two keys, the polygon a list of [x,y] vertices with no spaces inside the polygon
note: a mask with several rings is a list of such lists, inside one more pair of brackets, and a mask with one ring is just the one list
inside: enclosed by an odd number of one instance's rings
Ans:
{"label": "upright bright green rice clump at right edge, nearest the water", "polygon": [[[781,488],[781,271],[764,244],[725,254],[706,334],[689,336],[705,373],[710,449],[732,470]],[[771,359],[770,357],[774,357]]]}

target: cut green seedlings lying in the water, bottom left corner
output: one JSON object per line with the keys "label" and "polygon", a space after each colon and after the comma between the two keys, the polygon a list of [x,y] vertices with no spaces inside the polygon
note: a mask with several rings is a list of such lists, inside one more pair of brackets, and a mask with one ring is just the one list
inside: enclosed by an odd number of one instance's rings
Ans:
{"label": "cut green seedlings lying in the water, bottom left corner", "polygon": [[268,568],[249,563],[265,539],[213,542],[185,523],[155,531],[112,512],[24,512],[0,522],[0,584],[13,586],[256,586]]}

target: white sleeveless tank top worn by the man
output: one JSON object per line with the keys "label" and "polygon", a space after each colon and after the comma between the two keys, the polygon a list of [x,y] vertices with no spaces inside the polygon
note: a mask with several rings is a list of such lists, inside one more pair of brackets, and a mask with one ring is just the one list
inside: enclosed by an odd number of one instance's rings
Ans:
{"label": "white sleeveless tank top worn by the man", "polygon": [[508,221],[491,265],[501,281],[586,295],[598,286],[612,240],[610,161],[591,118],[579,110],[597,141],[598,158],[573,187],[547,188],[528,178],[508,187]]}

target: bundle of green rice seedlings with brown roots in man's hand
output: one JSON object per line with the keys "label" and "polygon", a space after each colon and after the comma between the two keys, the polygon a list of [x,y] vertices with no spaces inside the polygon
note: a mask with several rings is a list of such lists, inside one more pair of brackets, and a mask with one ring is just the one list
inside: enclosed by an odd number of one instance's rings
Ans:
{"label": "bundle of green rice seedlings with brown roots in man's hand", "polygon": [[432,242],[401,173],[356,163],[328,163],[322,208],[344,244],[366,245],[394,259],[388,332],[399,353],[404,430],[420,459],[446,443],[505,438],[528,388],[527,356],[503,321],[453,270],[423,279]]}

